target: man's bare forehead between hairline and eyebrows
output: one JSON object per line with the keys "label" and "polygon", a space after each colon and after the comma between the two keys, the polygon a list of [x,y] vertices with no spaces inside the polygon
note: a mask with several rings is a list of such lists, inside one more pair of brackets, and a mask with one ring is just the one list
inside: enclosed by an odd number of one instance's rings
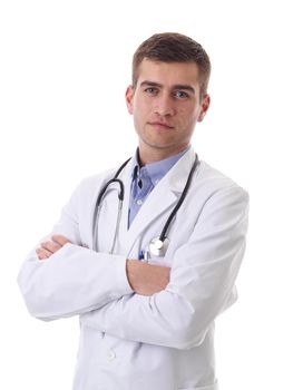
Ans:
{"label": "man's bare forehead between hairline and eyebrows", "polygon": [[164,86],[199,84],[199,71],[195,62],[163,62],[145,58],[138,67],[137,84],[145,80]]}

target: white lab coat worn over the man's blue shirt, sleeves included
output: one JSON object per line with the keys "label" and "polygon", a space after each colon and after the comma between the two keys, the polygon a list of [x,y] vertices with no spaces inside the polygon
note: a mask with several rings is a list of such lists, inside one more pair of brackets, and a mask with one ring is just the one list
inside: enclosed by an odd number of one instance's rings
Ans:
{"label": "white lab coat worn over the man's blue shirt, sleeves included", "polygon": [[[155,264],[172,267],[166,290],[135,294],[126,259],[158,236],[194,162],[191,148],[156,185],[127,228],[133,162],[120,178],[125,202],[115,254],[111,247],[117,191],[109,189],[92,248],[92,215],[101,186],[114,172],[84,181],[53,233],[66,244],[49,260],[35,250],[19,273],[28,310],[41,320],[80,315],[74,390],[216,390],[214,320],[236,299],[235,277],[245,248],[247,193],[201,162],[168,232],[170,244]],[[115,186],[114,186],[115,187]]]}

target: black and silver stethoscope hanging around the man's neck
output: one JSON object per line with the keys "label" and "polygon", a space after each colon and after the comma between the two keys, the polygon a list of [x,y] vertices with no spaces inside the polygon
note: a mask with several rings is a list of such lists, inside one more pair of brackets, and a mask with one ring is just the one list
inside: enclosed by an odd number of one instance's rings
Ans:
{"label": "black and silver stethoscope hanging around the man's neck", "polygon": [[[125,188],[124,188],[124,183],[121,179],[118,178],[119,174],[121,173],[121,170],[125,168],[125,166],[127,165],[127,163],[130,160],[130,158],[128,158],[120,167],[119,169],[116,172],[115,176],[108,181],[104,187],[101,188],[101,191],[99,192],[99,195],[97,197],[97,202],[96,202],[96,207],[95,207],[95,212],[94,212],[94,220],[92,220],[92,248],[94,251],[98,252],[98,221],[99,221],[99,213],[100,213],[100,208],[101,208],[101,204],[102,204],[102,199],[105,198],[105,194],[106,191],[108,189],[108,187],[113,184],[113,183],[117,183],[119,186],[119,191],[118,191],[118,215],[117,215],[117,220],[116,220],[116,227],[115,227],[115,234],[114,234],[114,240],[113,240],[113,244],[111,244],[111,248],[109,251],[110,254],[114,253],[114,248],[116,245],[116,241],[118,237],[118,233],[119,233],[119,225],[120,225],[120,221],[121,221],[121,211],[123,211],[123,202],[124,202],[124,193],[125,193]],[[153,240],[150,240],[149,244],[148,244],[148,248],[145,252],[147,256],[153,255],[153,256],[165,256],[168,245],[169,245],[169,238],[167,238],[167,232],[168,228],[176,215],[176,213],[178,212],[178,209],[180,208],[187,191],[191,186],[191,182],[194,175],[194,172],[196,169],[198,163],[198,156],[197,154],[195,155],[195,160],[193,163],[193,166],[191,168],[191,172],[188,174],[186,184],[184,186],[183,193],[177,202],[177,204],[175,205],[175,207],[173,208],[172,213],[169,214],[163,230],[159,236],[154,237]]]}

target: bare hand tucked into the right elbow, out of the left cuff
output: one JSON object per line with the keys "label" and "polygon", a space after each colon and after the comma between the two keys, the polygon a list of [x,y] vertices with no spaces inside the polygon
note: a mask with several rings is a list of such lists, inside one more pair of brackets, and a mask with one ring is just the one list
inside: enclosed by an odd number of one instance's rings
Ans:
{"label": "bare hand tucked into the right elbow, out of the left cuff", "polygon": [[150,296],[166,289],[169,283],[170,269],[162,265],[127,260],[126,272],[131,289],[140,295]]}

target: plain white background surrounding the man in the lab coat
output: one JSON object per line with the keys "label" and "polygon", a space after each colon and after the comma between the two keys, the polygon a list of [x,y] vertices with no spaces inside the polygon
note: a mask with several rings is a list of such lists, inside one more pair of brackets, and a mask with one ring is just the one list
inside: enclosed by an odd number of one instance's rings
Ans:
{"label": "plain white background surrounding the man in the lab coat", "polygon": [[217,321],[221,389],[293,388],[290,3],[1,1],[1,389],[70,389],[78,320],[30,318],[17,273],[79,181],[134,153],[131,55],[160,31],[209,53],[212,106],[194,147],[251,195],[240,300]]}

